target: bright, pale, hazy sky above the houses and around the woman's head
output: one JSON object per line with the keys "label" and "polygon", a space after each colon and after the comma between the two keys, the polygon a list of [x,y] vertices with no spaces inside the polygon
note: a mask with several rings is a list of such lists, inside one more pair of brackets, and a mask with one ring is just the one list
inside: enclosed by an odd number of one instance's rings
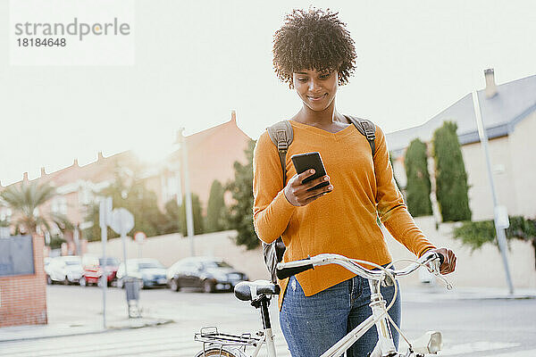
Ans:
{"label": "bright, pale, hazy sky above the houses and around the woman's head", "polygon": [[0,182],[37,178],[133,149],[155,161],[187,135],[230,120],[257,138],[301,102],[272,68],[285,13],[311,4],[339,12],[357,67],[339,112],[386,132],[420,125],[463,95],[536,74],[534,1],[136,0],[133,65],[16,66],[9,3],[0,2]]}

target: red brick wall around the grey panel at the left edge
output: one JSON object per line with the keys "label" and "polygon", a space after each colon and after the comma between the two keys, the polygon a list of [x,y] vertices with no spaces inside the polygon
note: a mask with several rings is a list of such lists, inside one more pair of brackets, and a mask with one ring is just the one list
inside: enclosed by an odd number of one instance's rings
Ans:
{"label": "red brick wall around the grey panel at the left edge", "polygon": [[46,324],[46,278],[43,237],[33,237],[36,273],[0,278],[0,328]]}

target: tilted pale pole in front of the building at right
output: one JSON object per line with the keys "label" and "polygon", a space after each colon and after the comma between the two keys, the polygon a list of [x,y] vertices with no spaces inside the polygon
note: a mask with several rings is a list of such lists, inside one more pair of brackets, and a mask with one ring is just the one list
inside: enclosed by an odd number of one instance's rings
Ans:
{"label": "tilted pale pole in front of the building at right", "polygon": [[[480,109],[480,103],[478,101],[478,94],[476,93],[476,91],[473,91],[473,104],[474,104],[473,105],[474,115],[476,116],[476,124],[478,126],[478,134],[481,140],[482,149],[484,152],[484,158],[486,160],[486,166],[488,168],[488,178],[490,179],[491,196],[493,197],[493,209],[494,209],[494,212],[497,212],[498,211],[497,194],[495,192],[493,172],[491,171],[490,153],[488,151],[488,135],[486,133],[486,129],[484,128],[484,123],[482,121],[482,112]],[[513,295],[514,285],[512,284],[512,278],[510,277],[510,269],[508,268],[507,237],[505,234],[505,229],[498,222],[498,218],[499,218],[498,214],[494,214],[495,231],[497,233],[498,249],[500,250],[500,255],[502,256],[505,273],[507,275],[508,289],[510,291],[510,295]]]}

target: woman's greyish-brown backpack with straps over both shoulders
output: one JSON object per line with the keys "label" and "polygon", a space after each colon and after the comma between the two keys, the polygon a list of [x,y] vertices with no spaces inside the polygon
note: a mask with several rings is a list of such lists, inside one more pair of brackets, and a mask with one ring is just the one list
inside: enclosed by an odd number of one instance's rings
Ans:
{"label": "woman's greyish-brown backpack with straps over both shoulders", "polygon": [[[352,116],[347,116],[347,118],[352,122],[352,124],[354,124],[356,129],[361,134],[363,134],[364,137],[366,137],[369,142],[369,145],[371,145],[371,151],[374,157],[374,153],[376,151],[376,144],[374,141],[376,139],[376,127],[374,126],[373,122],[361,118],[354,118]],[[290,144],[292,144],[292,140],[294,139],[294,131],[289,123],[289,120],[282,120],[280,122],[277,122],[266,130],[268,130],[268,135],[270,136],[273,145],[277,147],[277,151],[280,156],[284,186],[285,182],[287,182],[287,172],[285,170],[287,152],[289,151],[289,146]],[[281,237],[277,238],[269,245],[263,242],[264,263],[266,264],[266,268],[270,272],[270,276],[273,283],[277,283],[275,267],[278,262],[282,261],[283,254],[285,253],[286,249],[287,248],[285,247]]]}

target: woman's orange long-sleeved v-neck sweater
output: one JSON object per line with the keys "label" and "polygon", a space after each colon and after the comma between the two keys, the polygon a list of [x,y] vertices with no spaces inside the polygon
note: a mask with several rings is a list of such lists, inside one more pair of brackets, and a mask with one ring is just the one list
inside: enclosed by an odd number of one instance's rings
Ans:
{"label": "woman's orange long-sleeved v-neck sweater", "polygon": [[[294,139],[286,157],[287,182],[283,183],[280,157],[267,132],[257,140],[253,159],[255,232],[267,244],[282,237],[287,247],[283,262],[337,253],[387,264],[392,258],[377,217],[415,255],[435,248],[407,212],[393,179],[385,136],[378,126],[373,157],[366,137],[353,125],[331,133],[294,120],[289,122]],[[305,206],[294,206],[283,192],[296,175],[290,157],[315,151],[322,156],[333,190]],[[354,276],[330,264],[297,274],[296,278],[305,295],[310,296]],[[280,308],[288,280],[279,281]]]}

